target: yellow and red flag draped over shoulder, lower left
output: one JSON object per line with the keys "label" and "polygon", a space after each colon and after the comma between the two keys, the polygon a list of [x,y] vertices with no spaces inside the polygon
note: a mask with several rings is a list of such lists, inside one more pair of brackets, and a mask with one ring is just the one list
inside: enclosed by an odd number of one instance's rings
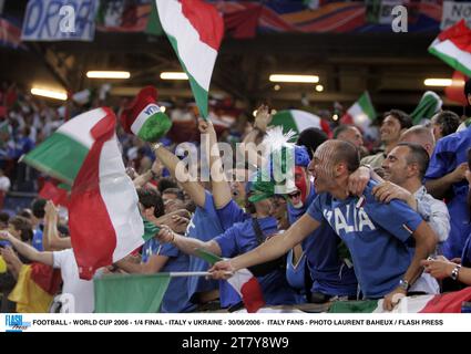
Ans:
{"label": "yellow and red flag draped over shoulder, lower left", "polygon": [[17,303],[19,313],[49,312],[61,283],[59,270],[42,263],[23,264],[8,300]]}

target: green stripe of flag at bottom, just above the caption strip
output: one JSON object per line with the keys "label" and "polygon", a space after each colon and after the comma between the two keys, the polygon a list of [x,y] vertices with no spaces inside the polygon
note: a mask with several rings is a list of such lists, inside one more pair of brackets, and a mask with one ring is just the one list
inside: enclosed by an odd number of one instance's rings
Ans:
{"label": "green stripe of flag at bottom, just above the caption strip", "polygon": [[94,279],[96,313],[158,312],[170,273],[104,275]]}

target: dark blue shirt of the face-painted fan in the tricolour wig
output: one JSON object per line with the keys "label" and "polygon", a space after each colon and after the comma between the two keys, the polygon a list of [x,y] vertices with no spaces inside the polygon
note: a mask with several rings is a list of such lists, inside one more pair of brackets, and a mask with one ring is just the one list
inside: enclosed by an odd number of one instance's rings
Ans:
{"label": "dark blue shirt of the face-painted fan in the tricolour wig", "polygon": [[[301,208],[295,208],[288,204],[289,223],[295,223],[305,215],[308,206],[316,199],[317,194],[314,184],[310,184],[310,191],[306,202]],[[341,240],[327,223],[311,232],[303,241],[303,250],[306,252],[307,263],[313,279],[313,292],[321,292],[328,295],[356,295],[357,277],[354,268],[348,268],[338,254],[338,247]]]}

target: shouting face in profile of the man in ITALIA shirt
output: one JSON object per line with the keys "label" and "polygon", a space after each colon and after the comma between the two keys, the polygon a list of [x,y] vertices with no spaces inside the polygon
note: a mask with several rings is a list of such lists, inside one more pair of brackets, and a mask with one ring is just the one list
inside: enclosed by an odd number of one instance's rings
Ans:
{"label": "shouting face in profile of the man in ITALIA shirt", "polygon": [[332,186],[335,180],[332,162],[335,145],[326,143],[317,148],[308,166],[308,170],[314,177],[314,187],[317,194],[329,191],[329,187]]}

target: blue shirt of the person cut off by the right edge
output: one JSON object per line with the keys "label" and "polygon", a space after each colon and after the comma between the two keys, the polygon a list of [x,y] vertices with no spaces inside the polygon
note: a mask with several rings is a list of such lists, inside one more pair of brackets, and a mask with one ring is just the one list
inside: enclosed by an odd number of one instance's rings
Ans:
{"label": "blue shirt of the person cut off by the right edge", "polygon": [[[467,163],[467,152],[470,146],[470,127],[439,139],[430,159],[426,179],[441,178],[453,171],[460,164]],[[447,202],[451,229],[448,239],[442,244],[442,252],[448,259],[461,256],[467,237],[471,233],[470,214],[467,204],[468,186],[469,184],[465,179],[453,184],[453,197]]]}

